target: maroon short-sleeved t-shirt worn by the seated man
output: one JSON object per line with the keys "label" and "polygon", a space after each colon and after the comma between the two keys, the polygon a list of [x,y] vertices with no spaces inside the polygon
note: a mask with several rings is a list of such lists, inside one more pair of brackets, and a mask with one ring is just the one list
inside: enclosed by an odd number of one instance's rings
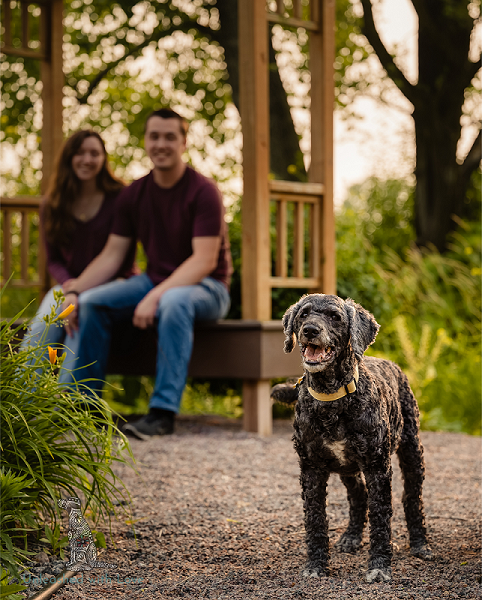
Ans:
{"label": "maroon short-sleeved t-shirt worn by the seated man", "polygon": [[195,237],[221,236],[218,264],[210,276],[229,287],[232,266],[224,206],[216,185],[191,167],[172,188],[161,188],[151,171],[118,199],[112,233],[139,239],[154,284],[167,279],[192,255]]}

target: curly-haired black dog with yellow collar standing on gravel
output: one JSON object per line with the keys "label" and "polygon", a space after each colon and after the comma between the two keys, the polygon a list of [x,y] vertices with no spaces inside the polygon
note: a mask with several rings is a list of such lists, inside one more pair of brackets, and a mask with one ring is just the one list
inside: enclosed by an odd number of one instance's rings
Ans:
{"label": "curly-haired black dog with yellow collar standing on gravel", "polygon": [[276,401],[296,405],[293,441],[299,455],[308,563],[305,577],[328,574],[326,487],[338,473],[347,488],[350,520],[336,547],[355,552],[370,521],[366,580],[391,578],[392,468],[396,452],[404,480],[403,506],[414,556],[432,558],[422,502],[423,448],[417,402],[406,376],[388,360],[364,357],[379,325],[352,300],[311,294],[283,317],[285,352],[296,341],[304,376],[281,384]]}

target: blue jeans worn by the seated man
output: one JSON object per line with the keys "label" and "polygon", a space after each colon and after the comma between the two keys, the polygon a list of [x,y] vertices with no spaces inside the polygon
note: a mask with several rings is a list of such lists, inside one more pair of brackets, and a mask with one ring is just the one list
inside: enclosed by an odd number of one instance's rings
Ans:
{"label": "blue jeans worn by the seated man", "polygon": [[[77,381],[105,380],[112,328],[132,319],[134,310],[154,288],[146,274],[113,281],[79,296]],[[223,318],[229,310],[229,293],[223,283],[206,277],[197,285],[167,290],[157,308],[156,382],[149,406],[179,412],[191,359],[194,322]],[[87,365],[87,366],[86,366]],[[99,387],[95,382],[87,385]]]}

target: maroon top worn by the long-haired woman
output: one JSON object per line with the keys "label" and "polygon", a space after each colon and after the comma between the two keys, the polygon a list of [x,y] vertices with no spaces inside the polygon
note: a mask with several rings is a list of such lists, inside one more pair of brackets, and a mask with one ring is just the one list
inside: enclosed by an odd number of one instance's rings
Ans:
{"label": "maroon top worn by the long-haired woman", "polygon": [[[99,212],[89,221],[74,218],[74,227],[69,235],[69,243],[58,246],[47,242],[45,237],[45,200],[40,206],[40,231],[47,251],[47,268],[50,275],[63,284],[68,279],[79,277],[82,271],[103,250],[109,237],[114,215],[117,210],[119,192],[106,194]],[[135,273],[135,244],[116,274],[116,277],[130,277]]]}

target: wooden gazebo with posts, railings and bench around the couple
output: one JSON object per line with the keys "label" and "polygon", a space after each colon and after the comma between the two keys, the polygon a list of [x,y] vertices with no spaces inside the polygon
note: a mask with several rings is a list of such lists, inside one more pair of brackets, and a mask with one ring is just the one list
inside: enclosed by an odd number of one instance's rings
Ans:
{"label": "wooden gazebo with posts, railings and bench around the couple", "polygon": [[[38,48],[29,45],[30,0],[20,0],[22,43],[14,47],[9,3],[3,3],[2,52],[34,57],[42,65],[42,191],[63,141],[62,0],[36,0],[42,10]],[[239,5],[240,102],[243,130],[242,320],[204,325],[196,340],[190,374],[243,379],[244,427],[271,432],[270,380],[301,374],[299,356],[283,355],[281,324],[271,321],[272,288],[308,288],[335,293],[333,213],[333,62],[335,0],[242,0]],[[302,27],[310,38],[311,164],[308,182],[270,180],[268,35],[270,24]],[[44,267],[28,278],[28,213],[38,198],[2,199],[3,276],[11,270],[12,213],[21,213],[21,272],[13,285],[50,286]],[[274,205],[272,204],[274,203]],[[270,207],[276,211],[272,259]],[[294,214],[293,260],[288,265],[288,212]],[[308,220],[309,227],[305,226]],[[307,234],[307,230],[309,233]],[[290,230],[291,231],[291,230]],[[308,236],[308,239],[307,239]],[[308,252],[306,252],[308,248]],[[272,264],[274,263],[274,268]],[[220,361],[220,364],[219,364]],[[125,372],[117,363],[116,372]]]}

